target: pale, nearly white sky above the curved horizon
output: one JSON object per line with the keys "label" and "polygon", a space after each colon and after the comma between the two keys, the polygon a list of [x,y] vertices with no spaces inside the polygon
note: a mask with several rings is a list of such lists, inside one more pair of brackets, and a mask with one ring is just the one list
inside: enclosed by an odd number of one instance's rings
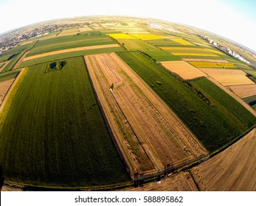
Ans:
{"label": "pale, nearly white sky above the curved horizon", "polygon": [[196,26],[256,51],[256,0],[0,0],[0,33],[56,18],[129,15]]}

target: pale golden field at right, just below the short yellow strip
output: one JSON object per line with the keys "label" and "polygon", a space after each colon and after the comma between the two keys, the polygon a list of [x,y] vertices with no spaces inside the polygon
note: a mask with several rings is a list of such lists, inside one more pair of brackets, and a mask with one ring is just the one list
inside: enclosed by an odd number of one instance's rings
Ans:
{"label": "pale golden field at right, just below the short yellow strip", "polygon": [[246,73],[242,70],[221,68],[200,68],[200,70],[224,86],[254,84],[251,79],[246,77]]}

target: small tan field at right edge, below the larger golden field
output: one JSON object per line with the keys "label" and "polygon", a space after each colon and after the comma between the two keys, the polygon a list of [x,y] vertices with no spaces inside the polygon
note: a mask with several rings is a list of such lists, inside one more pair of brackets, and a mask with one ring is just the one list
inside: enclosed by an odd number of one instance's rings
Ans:
{"label": "small tan field at right edge, below the larger golden field", "polygon": [[239,97],[256,95],[256,85],[232,85],[229,88]]}

